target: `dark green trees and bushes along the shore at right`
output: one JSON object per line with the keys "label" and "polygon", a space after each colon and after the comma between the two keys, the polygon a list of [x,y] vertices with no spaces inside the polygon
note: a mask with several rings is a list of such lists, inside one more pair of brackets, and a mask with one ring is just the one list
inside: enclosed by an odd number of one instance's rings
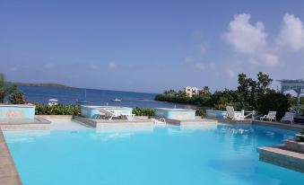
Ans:
{"label": "dark green trees and bushes along the shore at right", "polygon": [[[269,110],[277,111],[277,119],[281,119],[285,111],[295,102],[291,95],[275,92],[269,88],[273,79],[269,75],[259,72],[257,80],[239,74],[239,86],[237,90],[216,91],[210,93],[208,87],[204,87],[204,93],[187,97],[186,93],[169,90],[158,94],[155,101],[169,101],[178,103],[188,103],[201,107],[214,107],[216,110],[226,110],[226,106],[233,106],[235,110],[256,110],[267,114]],[[303,99],[304,101],[304,99]]]}

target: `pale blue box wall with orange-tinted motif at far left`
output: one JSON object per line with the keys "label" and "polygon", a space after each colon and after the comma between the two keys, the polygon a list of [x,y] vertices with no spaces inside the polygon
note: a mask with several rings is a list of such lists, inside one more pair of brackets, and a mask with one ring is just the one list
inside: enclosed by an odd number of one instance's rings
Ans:
{"label": "pale blue box wall with orange-tinted motif at far left", "polygon": [[0,119],[35,119],[36,106],[0,105]]}

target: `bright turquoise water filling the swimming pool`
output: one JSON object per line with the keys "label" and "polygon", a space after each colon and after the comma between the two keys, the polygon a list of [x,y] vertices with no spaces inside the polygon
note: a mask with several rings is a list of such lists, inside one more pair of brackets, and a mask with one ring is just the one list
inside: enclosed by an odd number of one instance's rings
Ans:
{"label": "bright turquoise water filling the swimming pool", "polygon": [[274,128],[121,128],[6,131],[24,185],[304,184],[304,175],[258,161],[256,147],[295,133]]}

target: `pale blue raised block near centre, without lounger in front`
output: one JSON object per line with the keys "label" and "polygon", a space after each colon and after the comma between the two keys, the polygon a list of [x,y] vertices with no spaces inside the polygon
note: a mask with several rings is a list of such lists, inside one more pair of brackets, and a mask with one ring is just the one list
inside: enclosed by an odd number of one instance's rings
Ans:
{"label": "pale blue raised block near centre, without lounger in front", "polygon": [[165,119],[195,119],[195,110],[156,108],[154,116]]}

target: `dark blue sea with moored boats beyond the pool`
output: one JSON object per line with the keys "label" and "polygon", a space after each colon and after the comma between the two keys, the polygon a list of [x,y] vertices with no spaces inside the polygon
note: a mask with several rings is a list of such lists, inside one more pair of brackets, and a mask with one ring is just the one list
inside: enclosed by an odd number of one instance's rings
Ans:
{"label": "dark blue sea with moored boats beyond the pool", "polygon": [[[56,88],[56,87],[38,87],[38,86],[18,86],[30,102],[39,104],[48,104],[48,99],[56,99],[58,103],[70,105],[77,104],[78,99],[84,98],[84,89],[81,88]],[[195,106],[153,101],[155,93],[135,93],[120,92],[109,90],[87,89],[86,97],[89,103],[87,105],[109,105],[109,106],[126,106],[140,108],[184,108],[195,109]],[[120,99],[121,102],[111,101]]]}

